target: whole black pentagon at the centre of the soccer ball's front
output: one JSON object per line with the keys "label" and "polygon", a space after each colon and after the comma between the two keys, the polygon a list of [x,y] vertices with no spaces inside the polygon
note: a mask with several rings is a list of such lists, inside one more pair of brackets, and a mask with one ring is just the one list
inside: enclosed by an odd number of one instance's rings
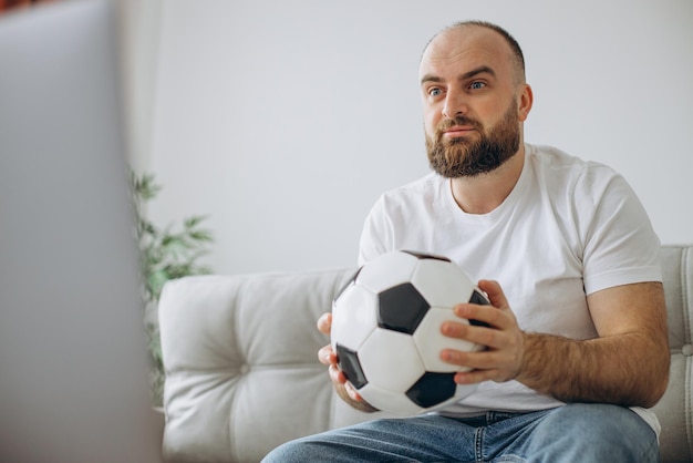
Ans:
{"label": "whole black pentagon at the centre of the soccer ball's front", "polygon": [[410,282],[377,295],[377,326],[413,335],[431,306]]}

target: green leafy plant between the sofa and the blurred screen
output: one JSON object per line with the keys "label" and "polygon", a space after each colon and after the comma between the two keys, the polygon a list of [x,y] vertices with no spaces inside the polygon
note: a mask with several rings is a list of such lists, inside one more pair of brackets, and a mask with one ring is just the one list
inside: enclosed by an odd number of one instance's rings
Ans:
{"label": "green leafy plant between the sofa and the blurred screen", "polygon": [[211,272],[209,267],[198,264],[198,260],[208,254],[214,237],[211,232],[201,228],[206,216],[192,216],[185,218],[178,227],[169,225],[165,228],[158,228],[146,217],[144,205],[162,189],[155,183],[154,175],[138,176],[131,171],[131,187],[141,251],[144,319],[152,361],[152,400],[154,407],[161,407],[165,372],[156,316],[158,299],[166,281]]}

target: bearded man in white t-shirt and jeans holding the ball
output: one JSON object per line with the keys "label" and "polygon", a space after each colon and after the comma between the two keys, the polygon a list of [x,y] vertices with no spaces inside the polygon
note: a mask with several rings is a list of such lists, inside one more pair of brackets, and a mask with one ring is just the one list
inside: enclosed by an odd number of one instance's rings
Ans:
{"label": "bearded man in white t-shirt and jeans holding the ball", "polygon": [[[360,263],[394,249],[445,255],[492,306],[455,313],[445,336],[487,347],[443,350],[478,389],[438,413],[375,420],[278,447],[268,461],[659,461],[647,410],[669,377],[659,240],[612,169],[524,143],[532,105],[517,42],[485,22],[445,29],[420,68],[435,173],[384,194]],[[331,318],[318,326],[329,333]],[[337,391],[373,410],[329,346]]]}

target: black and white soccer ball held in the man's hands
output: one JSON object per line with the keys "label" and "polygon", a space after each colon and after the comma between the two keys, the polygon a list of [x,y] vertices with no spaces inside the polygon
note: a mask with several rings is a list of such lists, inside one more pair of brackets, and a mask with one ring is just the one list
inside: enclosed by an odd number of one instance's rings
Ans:
{"label": "black and white soccer ball held in the man's hands", "polygon": [[[330,339],[346,379],[371,405],[414,415],[449,405],[476,389],[453,380],[463,368],[442,349],[484,349],[441,333],[459,302],[488,305],[449,259],[413,251],[387,253],[359,269],[332,303]],[[472,320],[473,325],[485,325]]]}

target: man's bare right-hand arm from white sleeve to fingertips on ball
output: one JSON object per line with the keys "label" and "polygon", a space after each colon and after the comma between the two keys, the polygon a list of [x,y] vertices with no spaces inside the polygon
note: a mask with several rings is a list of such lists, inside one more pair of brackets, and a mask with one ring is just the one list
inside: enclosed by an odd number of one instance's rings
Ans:
{"label": "man's bare right-hand arm from white sleeve to fingertips on ball", "polygon": [[[495,329],[445,323],[447,336],[488,346],[476,353],[443,351],[446,361],[475,370],[459,383],[516,379],[563,402],[654,405],[669,380],[666,309],[662,285],[643,282],[604,289],[588,297],[599,338],[572,340],[519,330],[500,286],[480,281],[494,307],[459,305],[463,318]],[[495,308],[495,310],[494,310]]]}

